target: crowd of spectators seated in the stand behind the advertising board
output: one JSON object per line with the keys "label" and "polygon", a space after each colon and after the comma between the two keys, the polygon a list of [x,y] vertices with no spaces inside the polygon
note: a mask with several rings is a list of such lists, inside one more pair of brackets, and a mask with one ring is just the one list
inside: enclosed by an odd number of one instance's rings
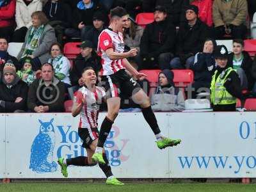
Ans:
{"label": "crowd of spectators seated in the stand behind the advertising board", "polygon": [[[129,61],[138,70],[162,70],[152,95],[156,111],[184,109],[184,92],[174,86],[171,69],[193,70],[193,98],[200,89],[209,90],[218,69],[216,40],[221,39],[234,40],[227,66],[236,71],[241,88],[256,95],[256,63],[243,43],[250,36],[248,21],[256,11],[255,1],[0,0],[1,111],[64,111],[63,103],[71,97],[68,90],[76,92],[84,84],[84,67],[93,67],[100,81],[98,36],[108,28],[109,10],[115,6],[129,12],[125,51],[138,50]],[[140,12],[154,12],[154,22],[145,29],[135,21]],[[74,40],[82,42],[81,51],[70,63],[63,45]],[[23,43],[17,58],[8,54],[8,42]]]}

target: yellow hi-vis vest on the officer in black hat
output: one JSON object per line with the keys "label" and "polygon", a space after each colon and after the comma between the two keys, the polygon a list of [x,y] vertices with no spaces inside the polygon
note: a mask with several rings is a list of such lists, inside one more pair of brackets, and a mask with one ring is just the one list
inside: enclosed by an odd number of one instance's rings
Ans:
{"label": "yellow hi-vis vest on the officer in black hat", "polygon": [[[227,92],[224,83],[227,81],[227,76],[234,70],[233,68],[229,67],[223,72],[221,72],[220,76],[216,79],[216,74],[218,70],[214,72],[212,76],[211,82],[211,102],[214,105],[225,105],[225,104],[234,104],[236,103],[236,97],[230,95]],[[216,79],[216,81],[215,81]]]}

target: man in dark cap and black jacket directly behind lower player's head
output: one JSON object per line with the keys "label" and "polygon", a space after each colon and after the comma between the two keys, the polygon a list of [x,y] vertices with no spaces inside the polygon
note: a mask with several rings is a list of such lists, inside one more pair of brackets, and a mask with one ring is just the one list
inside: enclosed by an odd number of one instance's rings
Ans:
{"label": "man in dark cap and black jacket directly behind lower player's head", "polygon": [[74,92],[84,85],[81,72],[85,67],[92,67],[96,74],[98,74],[101,68],[99,57],[95,51],[93,51],[92,42],[86,40],[82,42],[79,47],[81,48],[81,53],[74,61],[74,65],[70,72],[71,84],[74,86]]}

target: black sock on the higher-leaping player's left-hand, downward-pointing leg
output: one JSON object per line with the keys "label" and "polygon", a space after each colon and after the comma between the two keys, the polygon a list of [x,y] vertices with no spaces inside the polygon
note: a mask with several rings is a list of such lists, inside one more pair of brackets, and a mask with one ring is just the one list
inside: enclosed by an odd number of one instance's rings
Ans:
{"label": "black sock on the higher-leaping player's left-hand, downward-pointing leg", "polygon": [[104,146],[104,143],[106,141],[106,139],[108,138],[108,134],[111,130],[113,122],[111,120],[109,120],[108,117],[104,118],[104,121],[101,124],[100,127],[100,134],[99,134],[99,140],[98,140],[98,147],[102,147]]}

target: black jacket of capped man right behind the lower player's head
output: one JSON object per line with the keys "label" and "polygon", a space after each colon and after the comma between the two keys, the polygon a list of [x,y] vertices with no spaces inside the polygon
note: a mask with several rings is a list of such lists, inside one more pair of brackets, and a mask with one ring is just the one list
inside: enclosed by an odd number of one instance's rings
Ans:
{"label": "black jacket of capped man right behind the lower player's head", "polygon": [[99,57],[94,53],[92,54],[92,57],[88,58],[87,60],[85,60],[81,54],[77,56],[70,72],[72,86],[79,86],[78,80],[81,78],[83,69],[85,67],[92,67],[97,74],[101,68]]}

